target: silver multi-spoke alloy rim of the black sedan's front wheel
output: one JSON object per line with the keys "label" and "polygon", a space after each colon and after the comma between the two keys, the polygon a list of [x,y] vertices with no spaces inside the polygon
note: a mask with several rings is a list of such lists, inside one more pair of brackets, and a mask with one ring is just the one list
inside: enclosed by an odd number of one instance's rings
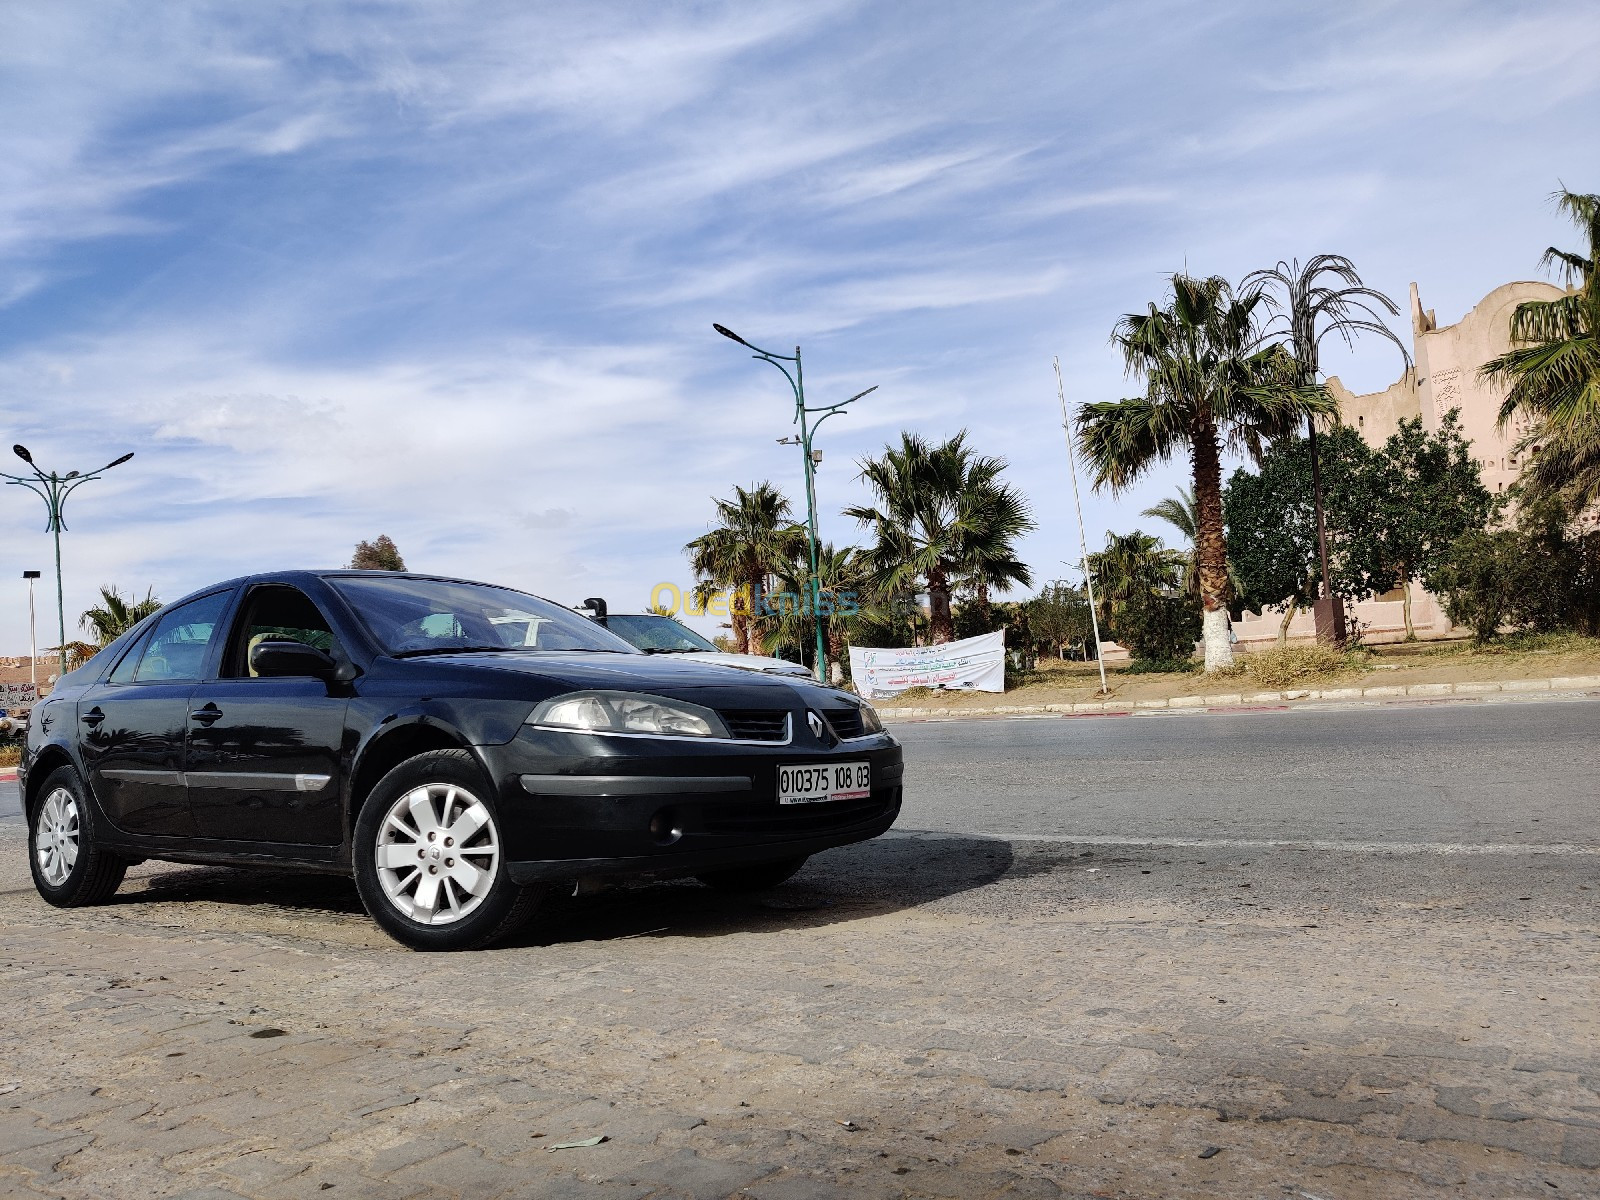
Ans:
{"label": "silver multi-spoke alloy rim of the black sedan's front wheel", "polygon": [[488,806],[458,784],[424,784],[395,800],[373,850],[378,882],[419,925],[451,925],[494,886],[499,832]]}

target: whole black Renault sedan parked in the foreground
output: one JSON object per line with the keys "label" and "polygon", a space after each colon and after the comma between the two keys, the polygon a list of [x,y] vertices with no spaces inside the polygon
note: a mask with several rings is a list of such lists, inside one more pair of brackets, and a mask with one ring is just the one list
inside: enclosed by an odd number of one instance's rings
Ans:
{"label": "whole black Renault sedan parked in the foreground", "polygon": [[128,864],[354,874],[418,949],[507,934],[554,885],[773,886],[877,837],[901,750],[808,680],[642,654],[547,600],[285,571],[168,605],[35,706],[29,864],[59,907]]}

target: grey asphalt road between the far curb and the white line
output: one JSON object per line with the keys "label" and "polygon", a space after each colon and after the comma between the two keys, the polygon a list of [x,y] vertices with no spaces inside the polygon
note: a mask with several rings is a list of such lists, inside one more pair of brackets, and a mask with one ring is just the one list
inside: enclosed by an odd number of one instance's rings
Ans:
{"label": "grey asphalt road between the far curb and the white line", "polygon": [[1600,701],[898,725],[902,830],[1600,851]]}

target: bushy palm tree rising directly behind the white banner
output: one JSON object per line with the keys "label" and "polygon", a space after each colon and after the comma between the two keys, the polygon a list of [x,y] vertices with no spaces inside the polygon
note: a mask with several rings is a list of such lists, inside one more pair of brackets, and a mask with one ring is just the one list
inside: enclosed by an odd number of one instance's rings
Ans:
{"label": "bushy palm tree rising directly behind the white banner", "polygon": [[931,445],[901,434],[899,446],[861,464],[861,478],[877,506],[845,509],[874,533],[866,550],[877,590],[886,595],[925,589],[928,637],[938,645],[955,637],[950,592],[970,581],[987,595],[990,586],[1030,581],[1016,558],[1014,539],[1034,528],[1027,501],[1000,482],[1003,458],[974,454],[966,430]]}

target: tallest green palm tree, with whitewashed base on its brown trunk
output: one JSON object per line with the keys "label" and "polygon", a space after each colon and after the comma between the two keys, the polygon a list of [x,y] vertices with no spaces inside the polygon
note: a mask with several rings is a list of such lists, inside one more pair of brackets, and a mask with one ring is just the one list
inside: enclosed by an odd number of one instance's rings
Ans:
{"label": "tallest green palm tree, with whitewashed base on its brown trunk", "polygon": [[1205,610],[1205,669],[1234,661],[1227,637],[1227,538],[1222,526],[1222,450],[1250,450],[1262,432],[1288,432],[1338,413],[1315,384],[1283,379],[1277,347],[1258,349],[1259,291],[1235,294],[1227,280],[1173,275],[1166,307],[1125,315],[1112,334],[1144,395],[1085,405],[1078,438],[1094,488],[1122,491],[1179,450],[1195,494],[1195,552]]}

